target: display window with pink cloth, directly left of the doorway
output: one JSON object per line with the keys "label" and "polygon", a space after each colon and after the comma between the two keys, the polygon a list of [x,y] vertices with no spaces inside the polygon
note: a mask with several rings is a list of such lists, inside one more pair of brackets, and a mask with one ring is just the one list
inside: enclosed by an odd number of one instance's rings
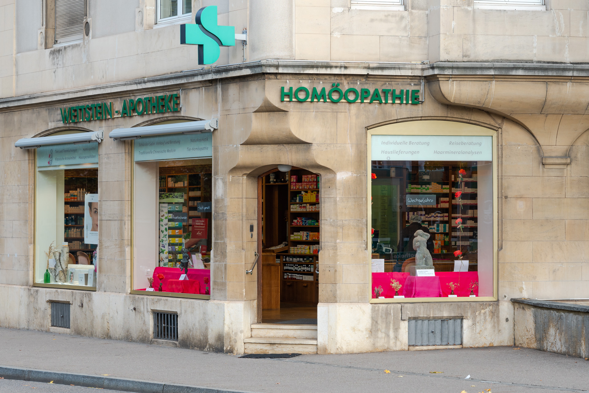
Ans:
{"label": "display window with pink cloth, directly left of the doorway", "polygon": [[[161,153],[150,138],[164,146],[180,145],[182,151],[186,148],[181,145],[188,144],[205,157],[145,159]],[[206,157],[211,154],[211,134],[150,138],[134,142],[133,291],[207,299],[213,244],[213,164]]]}

